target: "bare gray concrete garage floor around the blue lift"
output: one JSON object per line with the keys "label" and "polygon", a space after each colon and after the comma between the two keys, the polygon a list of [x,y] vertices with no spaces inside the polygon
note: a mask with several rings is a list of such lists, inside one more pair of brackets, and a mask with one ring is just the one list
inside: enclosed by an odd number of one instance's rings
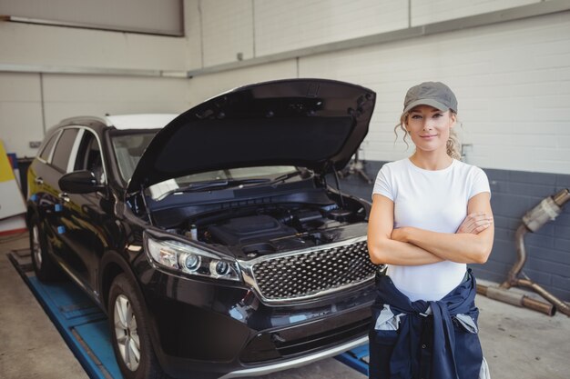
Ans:
{"label": "bare gray concrete garage floor around the blue lift", "polygon": [[[27,247],[27,234],[0,238],[0,378],[87,379],[6,254]],[[570,317],[477,297],[483,352],[495,379],[570,377]],[[334,359],[261,379],[364,379]]]}

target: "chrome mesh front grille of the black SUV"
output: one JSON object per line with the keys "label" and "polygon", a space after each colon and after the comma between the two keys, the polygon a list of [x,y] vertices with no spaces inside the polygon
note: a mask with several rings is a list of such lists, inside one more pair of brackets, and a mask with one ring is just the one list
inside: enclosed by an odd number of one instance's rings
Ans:
{"label": "chrome mesh front grille of the black SUV", "polygon": [[314,297],[371,279],[377,267],[366,240],[282,255],[253,264],[252,274],[267,301]]}

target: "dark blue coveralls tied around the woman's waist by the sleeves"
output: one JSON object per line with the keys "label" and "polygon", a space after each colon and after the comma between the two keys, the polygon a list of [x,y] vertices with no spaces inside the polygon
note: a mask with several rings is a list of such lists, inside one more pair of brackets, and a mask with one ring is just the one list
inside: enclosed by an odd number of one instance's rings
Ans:
{"label": "dark blue coveralls tied around the woman's waist by the sleeves", "polygon": [[370,378],[477,379],[483,352],[471,270],[440,301],[415,301],[379,274],[372,305]]}

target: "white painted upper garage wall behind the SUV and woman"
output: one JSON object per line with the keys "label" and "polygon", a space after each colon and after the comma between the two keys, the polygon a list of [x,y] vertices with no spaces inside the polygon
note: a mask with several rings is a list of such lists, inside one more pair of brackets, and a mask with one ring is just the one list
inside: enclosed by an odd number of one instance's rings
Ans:
{"label": "white painted upper garage wall behind the SUV and woman", "polygon": [[[185,0],[185,37],[0,22],[0,65],[184,71],[480,15],[539,0]],[[408,9],[411,5],[411,9]],[[29,140],[78,114],[182,112],[238,85],[326,77],[372,88],[378,103],[364,159],[409,155],[394,145],[407,88],[441,80],[459,98],[467,160],[486,168],[570,174],[570,13],[543,15],[191,79],[0,73],[0,138]],[[40,80],[41,78],[41,80]],[[17,130],[15,128],[18,128]]]}

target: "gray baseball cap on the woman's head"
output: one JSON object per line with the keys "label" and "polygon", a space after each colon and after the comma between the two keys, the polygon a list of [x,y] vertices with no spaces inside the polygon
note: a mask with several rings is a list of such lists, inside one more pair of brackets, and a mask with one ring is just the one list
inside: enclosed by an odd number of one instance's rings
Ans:
{"label": "gray baseball cap on the woman's head", "polygon": [[453,91],[441,82],[424,82],[412,86],[403,101],[402,113],[409,112],[417,105],[430,105],[442,112],[451,109],[457,113],[457,99]]}

